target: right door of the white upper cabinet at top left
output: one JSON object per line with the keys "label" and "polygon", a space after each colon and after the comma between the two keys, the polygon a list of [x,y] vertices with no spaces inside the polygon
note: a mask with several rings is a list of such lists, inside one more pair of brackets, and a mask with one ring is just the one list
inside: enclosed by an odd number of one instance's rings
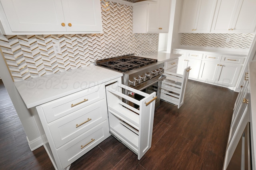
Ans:
{"label": "right door of the white upper cabinet at top left", "polygon": [[62,6],[67,31],[102,31],[97,0],[62,0]]}

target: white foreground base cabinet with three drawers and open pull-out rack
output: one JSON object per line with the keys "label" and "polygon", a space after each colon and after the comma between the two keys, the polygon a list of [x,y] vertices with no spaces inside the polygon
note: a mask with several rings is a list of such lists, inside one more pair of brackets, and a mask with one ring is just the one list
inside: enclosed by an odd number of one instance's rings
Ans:
{"label": "white foreground base cabinet with three drawers and open pull-out rack", "polygon": [[[121,82],[116,78],[31,109],[55,169],[69,169],[110,133],[138,159],[150,149],[156,92],[146,94]],[[142,100],[129,97],[129,91]]]}

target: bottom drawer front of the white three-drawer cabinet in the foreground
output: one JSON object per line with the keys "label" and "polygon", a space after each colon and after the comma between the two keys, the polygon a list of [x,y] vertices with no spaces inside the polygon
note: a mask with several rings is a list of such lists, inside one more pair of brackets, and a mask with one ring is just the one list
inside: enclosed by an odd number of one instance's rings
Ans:
{"label": "bottom drawer front of the white three-drawer cabinet in the foreground", "polygon": [[[108,122],[104,121],[78,138],[57,149],[63,168],[83,156],[110,136]],[[86,146],[85,146],[86,145]],[[85,147],[82,147],[85,146]],[[82,149],[81,149],[82,148]]]}

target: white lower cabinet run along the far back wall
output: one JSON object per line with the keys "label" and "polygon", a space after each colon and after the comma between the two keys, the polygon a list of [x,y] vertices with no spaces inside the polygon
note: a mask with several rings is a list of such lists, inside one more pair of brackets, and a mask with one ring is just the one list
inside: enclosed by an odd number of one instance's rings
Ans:
{"label": "white lower cabinet run along the far back wall", "polygon": [[221,86],[236,86],[246,56],[200,52],[174,49],[172,53],[182,55],[178,59],[177,73],[182,74],[190,66],[189,78]]}

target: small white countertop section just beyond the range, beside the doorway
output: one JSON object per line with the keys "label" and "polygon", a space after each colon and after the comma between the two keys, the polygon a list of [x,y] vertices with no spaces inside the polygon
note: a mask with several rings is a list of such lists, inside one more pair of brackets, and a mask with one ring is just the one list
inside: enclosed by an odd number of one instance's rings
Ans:
{"label": "small white countertop section just beyond the range, beside the doorway", "polygon": [[138,55],[138,56],[146,57],[146,58],[150,58],[150,59],[157,59],[158,62],[165,62],[165,61],[169,61],[169,60],[172,60],[172,59],[177,59],[181,55],[172,54],[172,53],[157,52],[157,53]]}

